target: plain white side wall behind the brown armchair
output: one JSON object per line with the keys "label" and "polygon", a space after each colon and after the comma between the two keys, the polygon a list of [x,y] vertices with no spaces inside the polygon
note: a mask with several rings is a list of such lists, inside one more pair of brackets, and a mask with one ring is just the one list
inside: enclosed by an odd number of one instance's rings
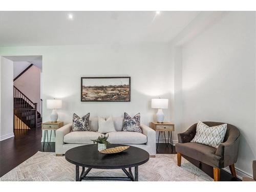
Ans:
{"label": "plain white side wall behind the brown armchair", "polygon": [[255,12],[227,12],[182,49],[184,130],[198,120],[241,131],[236,167],[252,175],[256,159]]}

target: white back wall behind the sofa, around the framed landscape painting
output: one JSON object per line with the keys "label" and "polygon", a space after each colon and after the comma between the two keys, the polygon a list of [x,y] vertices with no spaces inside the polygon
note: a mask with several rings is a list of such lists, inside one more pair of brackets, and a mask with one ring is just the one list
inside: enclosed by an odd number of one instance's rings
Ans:
{"label": "white back wall behind the sofa, around the framed landscape painting", "polygon": [[[151,109],[151,99],[172,98],[170,51],[165,44],[5,47],[0,55],[42,55],[44,121],[51,114],[46,99],[60,98],[59,120],[65,123],[72,121],[73,113],[121,117],[123,112],[140,112],[141,122],[149,125],[157,111]],[[131,76],[131,102],[81,102],[80,78],[87,76]],[[166,121],[169,111],[164,110]]]}

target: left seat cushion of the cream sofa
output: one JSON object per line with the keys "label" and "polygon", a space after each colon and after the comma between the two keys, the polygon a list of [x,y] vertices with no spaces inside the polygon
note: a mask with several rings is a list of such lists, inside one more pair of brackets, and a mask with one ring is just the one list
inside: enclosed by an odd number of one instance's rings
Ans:
{"label": "left seat cushion of the cream sofa", "polygon": [[93,144],[92,139],[97,139],[104,134],[92,132],[92,131],[83,131],[83,132],[70,132],[64,136],[63,141],[65,143],[76,143],[76,144]]}

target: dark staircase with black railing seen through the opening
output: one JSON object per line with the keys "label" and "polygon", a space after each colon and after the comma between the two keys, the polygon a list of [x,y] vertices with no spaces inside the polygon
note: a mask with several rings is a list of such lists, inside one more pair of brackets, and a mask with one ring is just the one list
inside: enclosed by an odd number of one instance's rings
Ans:
{"label": "dark staircase with black railing seen through the opening", "polygon": [[[13,86],[13,125],[17,128],[19,120],[25,123],[30,129],[37,126],[37,103],[31,101],[23,92]],[[15,118],[15,116],[17,118]],[[16,126],[15,126],[16,125]],[[18,129],[25,129],[20,126]]]}

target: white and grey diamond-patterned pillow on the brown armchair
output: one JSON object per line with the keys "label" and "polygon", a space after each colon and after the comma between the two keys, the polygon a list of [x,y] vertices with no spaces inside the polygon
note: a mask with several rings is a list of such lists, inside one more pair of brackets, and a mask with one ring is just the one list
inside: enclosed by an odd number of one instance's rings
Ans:
{"label": "white and grey diamond-patterned pillow on the brown armchair", "polygon": [[194,139],[190,142],[201,143],[218,148],[219,144],[223,142],[227,131],[227,124],[211,126],[199,121],[197,123],[197,133]]}

